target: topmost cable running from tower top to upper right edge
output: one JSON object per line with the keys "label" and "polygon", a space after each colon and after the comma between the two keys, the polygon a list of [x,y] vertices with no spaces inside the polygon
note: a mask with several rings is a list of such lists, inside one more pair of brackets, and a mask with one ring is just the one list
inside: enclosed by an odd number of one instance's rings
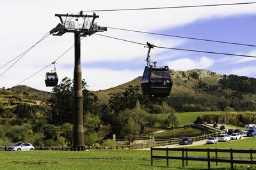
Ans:
{"label": "topmost cable running from tower top to upper right edge", "polygon": [[191,6],[168,6],[168,7],[155,7],[155,8],[126,8],[126,9],[109,9],[109,10],[85,10],[85,11],[86,12],[100,12],[100,11],[163,10],[163,9],[173,9],[173,8],[196,8],[196,7],[228,6],[228,5],[240,5],[240,4],[256,4],[256,2],[228,3],[228,4],[201,4],[201,5],[191,5]]}

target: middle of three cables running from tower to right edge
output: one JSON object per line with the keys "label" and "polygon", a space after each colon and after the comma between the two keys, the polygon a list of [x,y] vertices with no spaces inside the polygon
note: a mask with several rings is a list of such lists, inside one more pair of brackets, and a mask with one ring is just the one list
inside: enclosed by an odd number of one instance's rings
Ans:
{"label": "middle of three cables running from tower to right edge", "polygon": [[249,45],[249,44],[244,44],[244,43],[234,43],[234,42],[228,42],[228,41],[217,41],[217,40],[212,40],[212,39],[192,38],[192,37],[186,37],[186,36],[175,36],[175,35],[171,35],[171,34],[160,34],[160,33],[156,33],[156,32],[136,31],[136,30],[132,30],[132,29],[121,29],[121,28],[116,28],[116,27],[108,27],[108,29],[138,32],[138,33],[143,33],[143,34],[153,34],[153,35],[157,35],[157,36],[170,36],[170,37],[175,37],[175,38],[195,39],[195,40],[200,40],[200,41],[210,41],[210,42],[214,42],[214,43],[226,43],[226,44],[231,44],[231,45],[243,45],[243,46],[256,47],[256,45]]}

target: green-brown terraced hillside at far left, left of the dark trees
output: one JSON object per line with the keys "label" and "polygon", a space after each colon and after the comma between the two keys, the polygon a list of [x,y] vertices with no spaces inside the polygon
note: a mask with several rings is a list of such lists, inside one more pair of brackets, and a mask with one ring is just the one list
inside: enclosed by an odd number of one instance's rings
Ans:
{"label": "green-brown terraced hillside at far left, left of the dark trees", "polygon": [[26,86],[0,89],[0,117],[46,117],[50,96],[49,92]]}

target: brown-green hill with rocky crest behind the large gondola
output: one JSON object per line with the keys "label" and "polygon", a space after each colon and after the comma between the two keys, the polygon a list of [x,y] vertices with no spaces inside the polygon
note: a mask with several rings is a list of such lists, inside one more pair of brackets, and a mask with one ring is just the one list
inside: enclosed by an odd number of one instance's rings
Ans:
{"label": "brown-green hill with rocky crest behind the large gondola", "polygon": [[[226,106],[232,106],[237,111],[256,110],[255,78],[226,76],[207,69],[171,71],[173,87],[167,101],[173,108],[181,108],[182,104],[201,104],[208,107],[218,106],[221,110]],[[111,95],[124,92],[129,85],[140,86],[140,81],[141,76],[94,93],[99,97],[100,103],[108,104]]]}

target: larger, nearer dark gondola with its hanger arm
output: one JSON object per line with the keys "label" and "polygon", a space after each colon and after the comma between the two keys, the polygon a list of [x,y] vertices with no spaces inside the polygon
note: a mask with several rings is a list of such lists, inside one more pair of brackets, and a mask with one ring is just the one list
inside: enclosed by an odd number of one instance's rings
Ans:
{"label": "larger, nearer dark gondola with its hanger arm", "polygon": [[[172,90],[172,76],[168,66],[157,67],[157,62],[150,60],[150,49],[154,48],[147,42],[148,45],[148,56],[147,64],[145,67],[143,76],[141,78],[141,89],[143,96],[150,97],[168,97]],[[150,65],[154,63],[154,66]]]}

